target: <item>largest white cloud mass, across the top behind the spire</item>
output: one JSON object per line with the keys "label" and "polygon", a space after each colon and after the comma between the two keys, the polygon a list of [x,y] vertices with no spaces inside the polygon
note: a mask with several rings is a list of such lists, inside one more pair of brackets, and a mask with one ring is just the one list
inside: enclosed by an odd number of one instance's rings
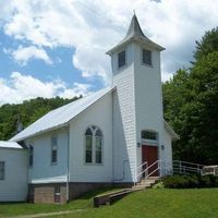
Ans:
{"label": "largest white cloud mass, across the top behind the spire", "polygon": [[218,21],[214,0],[12,0],[5,4],[5,16],[0,15],[5,34],[37,47],[74,47],[73,64],[82,75],[100,76],[105,83],[111,77],[105,51],[124,37],[133,9],[145,34],[167,48],[164,78],[189,64],[195,39]]}

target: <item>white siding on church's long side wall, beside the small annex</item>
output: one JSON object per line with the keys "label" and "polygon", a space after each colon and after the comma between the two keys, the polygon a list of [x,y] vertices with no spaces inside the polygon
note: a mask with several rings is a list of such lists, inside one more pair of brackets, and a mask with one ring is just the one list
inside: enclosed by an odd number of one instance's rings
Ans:
{"label": "white siding on church's long side wall, beside the small annex", "polygon": [[[58,161],[51,164],[51,135],[58,136]],[[29,183],[52,183],[66,181],[68,167],[68,130],[49,132],[28,140],[34,147],[33,167],[28,169]]]}

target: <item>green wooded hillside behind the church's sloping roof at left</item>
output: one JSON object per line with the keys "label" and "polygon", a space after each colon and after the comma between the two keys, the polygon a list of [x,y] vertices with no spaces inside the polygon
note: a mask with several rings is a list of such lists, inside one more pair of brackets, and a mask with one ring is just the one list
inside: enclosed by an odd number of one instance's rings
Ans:
{"label": "green wooded hillside behind the church's sloping roof at left", "polygon": [[5,141],[11,138],[17,132],[17,122],[20,121],[24,128],[35,122],[37,119],[46,114],[52,109],[61,107],[73,100],[56,98],[41,98],[25,100],[20,105],[3,105],[0,107],[0,140]]}

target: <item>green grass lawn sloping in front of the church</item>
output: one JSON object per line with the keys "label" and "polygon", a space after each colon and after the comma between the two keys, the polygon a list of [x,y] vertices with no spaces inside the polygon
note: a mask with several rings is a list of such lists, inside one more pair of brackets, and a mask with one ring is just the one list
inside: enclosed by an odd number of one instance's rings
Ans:
{"label": "green grass lawn sloping in front of the church", "polygon": [[85,210],[62,215],[61,217],[218,218],[218,189],[145,190],[130,194],[112,206],[92,208],[92,197],[95,194],[99,194],[99,192],[92,192],[83,198],[62,206],[0,205],[0,217],[85,208]]}

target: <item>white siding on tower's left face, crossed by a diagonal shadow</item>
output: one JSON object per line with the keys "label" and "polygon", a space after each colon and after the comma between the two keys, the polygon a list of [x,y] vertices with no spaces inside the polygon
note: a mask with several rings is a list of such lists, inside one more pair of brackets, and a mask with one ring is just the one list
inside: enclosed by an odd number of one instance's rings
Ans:
{"label": "white siding on tower's left face, crossed by a diagonal shadow", "polygon": [[113,85],[117,86],[113,93],[113,180],[133,182],[136,165],[133,44],[123,49],[125,66],[118,69],[117,53],[112,56]]}

